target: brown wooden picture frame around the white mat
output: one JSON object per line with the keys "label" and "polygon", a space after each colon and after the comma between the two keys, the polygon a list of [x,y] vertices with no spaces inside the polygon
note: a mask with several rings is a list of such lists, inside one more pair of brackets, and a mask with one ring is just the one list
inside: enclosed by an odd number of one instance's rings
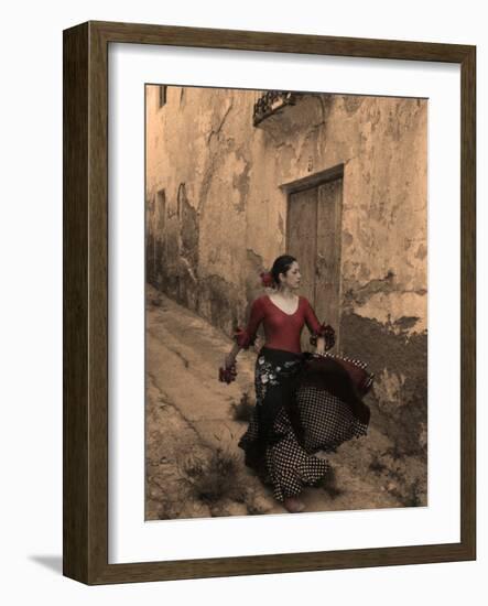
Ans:
{"label": "brown wooden picture frame around the white mat", "polygon": [[[108,563],[108,46],[176,45],[460,65],[460,542]],[[476,559],[476,47],[132,23],[64,32],[64,575],[95,584]],[[446,327],[448,329],[448,327]]]}

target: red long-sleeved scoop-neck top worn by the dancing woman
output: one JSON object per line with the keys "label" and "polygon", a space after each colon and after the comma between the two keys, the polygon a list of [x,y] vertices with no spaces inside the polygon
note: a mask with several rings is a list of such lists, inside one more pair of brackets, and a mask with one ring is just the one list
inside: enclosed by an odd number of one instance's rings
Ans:
{"label": "red long-sleeved scoop-neck top worn by the dancing woman", "polygon": [[259,325],[263,324],[267,347],[284,349],[286,351],[301,353],[300,337],[303,326],[306,324],[311,332],[311,343],[323,335],[325,326],[321,324],[312,305],[305,296],[299,295],[296,312],[288,314],[280,310],[271,299],[263,294],[252,302],[248,324],[245,329],[237,328],[234,338],[243,349],[254,343]]}

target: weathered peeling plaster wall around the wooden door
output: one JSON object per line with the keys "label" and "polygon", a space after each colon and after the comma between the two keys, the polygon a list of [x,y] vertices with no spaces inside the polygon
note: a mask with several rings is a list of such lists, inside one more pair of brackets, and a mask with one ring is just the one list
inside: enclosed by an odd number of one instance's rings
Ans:
{"label": "weathered peeling plaster wall around the wooden door", "polygon": [[254,128],[260,91],[169,87],[161,109],[158,95],[148,280],[230,334],[285,251],[280,185],[344,164],[341,348],[375,371],[397,451],[426,456],[426,100],[305,95]]}

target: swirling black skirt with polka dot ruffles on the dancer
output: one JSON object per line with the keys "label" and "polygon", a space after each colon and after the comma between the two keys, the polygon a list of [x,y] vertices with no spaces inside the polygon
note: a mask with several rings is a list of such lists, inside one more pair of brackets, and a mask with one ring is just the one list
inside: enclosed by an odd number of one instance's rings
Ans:
{"label": "swirling black skirt with polka dot ruffles on the dancer", "polygon": [[328,366],[312,372],[310,359],[262,347],[256,360],[256,407],[238,445],[278,501],[327,475],[330,464],[316,453],[367,434],[369,416],[358,414],[365,404],[347,374]]}

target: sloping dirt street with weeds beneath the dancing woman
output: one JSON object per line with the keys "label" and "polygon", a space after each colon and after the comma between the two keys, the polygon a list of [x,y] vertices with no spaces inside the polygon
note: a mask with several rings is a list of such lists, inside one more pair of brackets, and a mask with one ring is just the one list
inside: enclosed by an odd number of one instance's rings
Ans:
{"label": "sloping dirt street with weeds beneath the dancing woman", "polygon": [[[239,354],[235,382],[219,382],[231,340],[152,286],[147,292],[147,520],[288,515],[245,466],[237,446],[247,423],[235,419],[232,404],[245,392],[254,401],[256,351]],[[410,505],[384,465],[381,454],[389,450],[372,424],[368,436],[327,455],[337,490],[306,488],[306,511]]]}

